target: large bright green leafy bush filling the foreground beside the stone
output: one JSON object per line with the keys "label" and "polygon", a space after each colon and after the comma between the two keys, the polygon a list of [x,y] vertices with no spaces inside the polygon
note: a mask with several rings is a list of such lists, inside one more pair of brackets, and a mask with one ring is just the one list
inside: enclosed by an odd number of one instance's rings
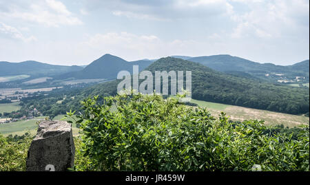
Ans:
{"label": "large bright green leafy bush filling the foreground beside the stone", "polygon": [[[309,171],[309,125],[270,132],[262,121],[229,122],[153,95],[82,102],[78,171]],[[116,107],[116,108],[115,108]],[[73,113],[70,111],[69,116]],[[81,160],[86,157],[86,160]],[[253,167],[253,168],[252,168]]]}

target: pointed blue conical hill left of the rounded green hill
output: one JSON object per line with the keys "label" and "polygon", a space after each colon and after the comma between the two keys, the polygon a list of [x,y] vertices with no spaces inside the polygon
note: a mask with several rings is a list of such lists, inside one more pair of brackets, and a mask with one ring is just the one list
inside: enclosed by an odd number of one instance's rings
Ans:
{"label": "pointed blue conical hill left of the rounded green hill", "polygon": [[118,72],[125,70],[132,73],[132,66],[139,65],[139,69],[145,69],[149,66],[152,61],[141,60],[128,62],[113,56],[111,54],[105,54],[98,58],[96,61],[87,65],[83,70],[79,72],[71,72],[68,74],[63,74],[56,76],[55,78],[76,78],[76,79],[90,79],[90,78],[105,78],[105,79],[116,79]]}

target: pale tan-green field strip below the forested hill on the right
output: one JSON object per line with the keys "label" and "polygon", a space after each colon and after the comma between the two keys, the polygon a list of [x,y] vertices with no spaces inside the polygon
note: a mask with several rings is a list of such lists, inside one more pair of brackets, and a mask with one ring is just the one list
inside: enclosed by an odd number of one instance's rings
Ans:
{"label": "pale tan-green field strip below the forested hill on the right", "polygon": [[298,127],[300,124],[309,124],[309,117],[306,116],[297,116],[288,113],[278,113],[233,105],[223,105],[220,103],[205,102],[194,99],[192,99],[191,102],[196,103],[200,107],[207,107],[213,116],[218,116],[221,111],[224,111],[226,115],[229,116],[229,119],[234,121],[265,120],[265,124],[283,124],[285,127]]}

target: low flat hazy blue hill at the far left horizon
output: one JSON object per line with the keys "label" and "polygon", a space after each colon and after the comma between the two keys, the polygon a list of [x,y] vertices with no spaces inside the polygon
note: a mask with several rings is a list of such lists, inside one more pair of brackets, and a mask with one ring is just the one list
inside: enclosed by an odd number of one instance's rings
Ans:
{"label": "low flat hazy blue hill at the far left horizon", "polygon": [[74,72],[83,69],[76,65],[50,65],[47,63],[39,63],[37,61],[24,61],[21,63],[9,63],[0,61],[1,76],[12,76],[28,74],[30,76],[51,76],[67,72]]}

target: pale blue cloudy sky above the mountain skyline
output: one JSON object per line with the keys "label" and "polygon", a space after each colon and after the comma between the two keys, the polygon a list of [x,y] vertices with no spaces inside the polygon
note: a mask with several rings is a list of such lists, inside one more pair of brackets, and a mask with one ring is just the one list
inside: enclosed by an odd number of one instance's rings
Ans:
{"label": "pale blue cloudy sky above the mountain skyline", "polygon": [[0,61],[230,54],[309,59],[309,0],[0,0]]}

